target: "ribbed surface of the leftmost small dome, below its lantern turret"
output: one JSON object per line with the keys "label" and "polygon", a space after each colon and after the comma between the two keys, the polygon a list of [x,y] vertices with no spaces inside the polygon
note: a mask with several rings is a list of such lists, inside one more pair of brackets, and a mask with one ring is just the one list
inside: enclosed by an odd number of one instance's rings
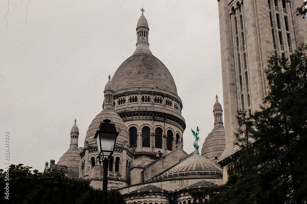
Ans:
{"label": "ribbed surface of the leftmost small dome, below its lantern turret", "polygon": [[76,145],[71,145],[69,149],[61,156],[57,164],[77,167],[79,169],[80,155],[78,147]]}

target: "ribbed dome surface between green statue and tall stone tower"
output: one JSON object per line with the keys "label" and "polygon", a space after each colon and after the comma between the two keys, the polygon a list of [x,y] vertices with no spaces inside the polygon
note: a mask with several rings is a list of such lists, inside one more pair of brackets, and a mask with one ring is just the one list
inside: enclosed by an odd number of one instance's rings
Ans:
{"label": "ribbed dome surface between green statue and tall stone tower", "polygon": [[223,126],[218,126],[206,137],[201,149],[201,155],[210,160],[214,160],[216,157],[220,158],[225,147],[225,128]]}

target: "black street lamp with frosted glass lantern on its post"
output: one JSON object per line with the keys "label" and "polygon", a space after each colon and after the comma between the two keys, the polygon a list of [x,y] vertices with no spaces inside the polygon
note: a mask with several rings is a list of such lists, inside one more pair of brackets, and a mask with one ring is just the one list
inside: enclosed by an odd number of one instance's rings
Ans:
{"label": "black street lamp with frosted glass lantern on its post", "polygon": [[96,139],[98,155],[102,156],[103,161],[103,185],[102,185],[102,199],[103,203],[107,204],[107,191],[108,191],[108,167],[109,159],[114,152],[115,142],[119,132],[115,128],[115,124],[106,119],[100,123],[99,130],[97,130],[94,139]]}

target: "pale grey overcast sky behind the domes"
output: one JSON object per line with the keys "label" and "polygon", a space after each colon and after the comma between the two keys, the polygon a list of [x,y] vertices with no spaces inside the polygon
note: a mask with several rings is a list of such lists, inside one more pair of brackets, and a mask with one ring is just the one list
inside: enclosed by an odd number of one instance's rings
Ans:
{"label": "pale grey overcast sky behind the domes", "polygon": [[[214,126],[216,94],[223,106],[217,1],[9,0],[0,6],[0,134],[4,141],[9,132],[10,164],[43,171],[45,161],[57,163],[75,118],[84,147],[107,76],[135,50],[142,6],[150,50],[169,69],[183,103],[184,150],[193,151],[196,126],[201,149]],[[3,169],[4,145],[0,150]]]}

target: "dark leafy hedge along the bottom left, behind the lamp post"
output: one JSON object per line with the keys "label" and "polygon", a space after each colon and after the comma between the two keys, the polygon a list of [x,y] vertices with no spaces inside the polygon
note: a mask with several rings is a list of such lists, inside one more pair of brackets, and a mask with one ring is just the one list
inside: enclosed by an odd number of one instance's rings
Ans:
{"label": "dark leafy hedge along the bottom left, behind the lamp post", "polygon": [[[9,200],[2,196],[1,203],[102,203],[102,191],[91,187],[89,180],[68,178],[63,170],[32,173],[30,169],[19,164],[10,165],[6,172],[0,170],[1,188],[9,184]],[[110,204],[125,203],[116,189],[109,190],[108,197]]]}

